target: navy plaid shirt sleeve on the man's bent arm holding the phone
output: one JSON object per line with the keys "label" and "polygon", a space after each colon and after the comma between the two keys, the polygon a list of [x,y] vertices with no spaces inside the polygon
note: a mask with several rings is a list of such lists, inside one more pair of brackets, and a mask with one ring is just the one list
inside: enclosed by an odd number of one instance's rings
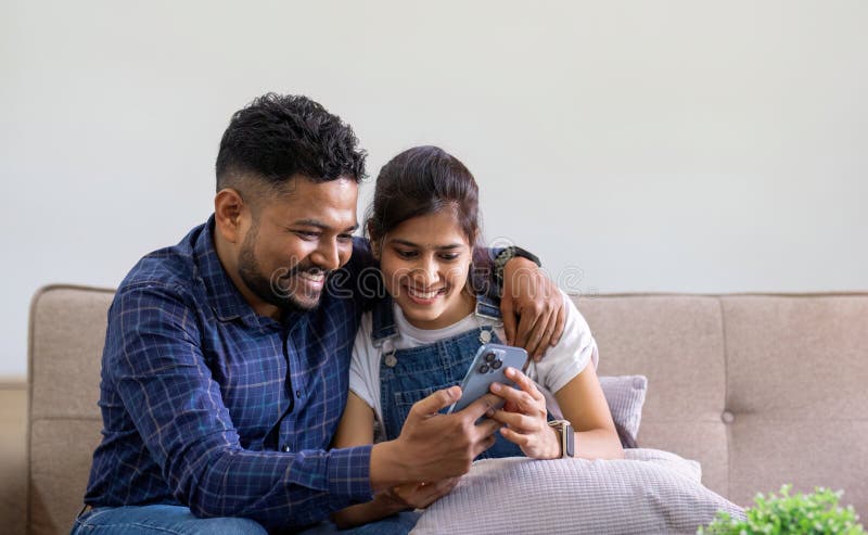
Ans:
{"label": "navy plaid shirt sleeve on the man's bent arm holding the phone", "polygon": [[103,359],[103,382],[115,386],[130,432],[175,498],[197,517],[246,517],[266,526],[310,524],[370,500],[370,446],[282,453],[240,445],[183,295],[155,283],[122,289]]}

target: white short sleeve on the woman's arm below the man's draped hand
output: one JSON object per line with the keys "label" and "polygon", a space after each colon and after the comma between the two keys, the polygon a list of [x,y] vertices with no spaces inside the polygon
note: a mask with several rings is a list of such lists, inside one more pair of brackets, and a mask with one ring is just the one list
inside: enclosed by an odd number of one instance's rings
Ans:
{"label": "white short sleeve on the woman's arm below the man's draped hand", "polygon": [[558,345],[550,348],[542,359],[536,362],[538,381],[551,393],[557,393],[566,383],[585,370],[588,362],[597,366],[597,342],[590,333],[585,318],[563,291],[561,295],[566,307],[563,335]]}

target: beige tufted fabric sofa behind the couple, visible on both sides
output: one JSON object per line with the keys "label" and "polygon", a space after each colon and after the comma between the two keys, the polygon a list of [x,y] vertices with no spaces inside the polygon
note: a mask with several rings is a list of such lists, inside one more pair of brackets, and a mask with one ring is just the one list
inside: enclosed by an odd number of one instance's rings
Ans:
{"label": "beige tufted fabric sofa behind the couple, visible on both sides", "polygon": [[[111,290],[68,285],[34,297],[28,476],[4,482],[20,509],[2,526],[26,511],[26,533],[68,533],[81,507],[111,300]],[[741,505],[782,483],[827,486],[868,518],[868,293],[576,303],[600,372],[648,377],[641,445],[699,460],[703,483]]]}

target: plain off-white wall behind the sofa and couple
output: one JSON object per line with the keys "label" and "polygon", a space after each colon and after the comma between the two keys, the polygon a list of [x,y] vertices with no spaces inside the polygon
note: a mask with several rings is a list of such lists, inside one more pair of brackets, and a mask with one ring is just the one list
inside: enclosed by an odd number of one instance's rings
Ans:
{"label": "plain off-white wall behind the sofa and couple", "polygon": [[868,2],[539,3],[0,3],[0,375],[38,286],[114,286],[207,217],[268,90],[373,176],[454,152],[487,237],[574,292],[868,290]]}

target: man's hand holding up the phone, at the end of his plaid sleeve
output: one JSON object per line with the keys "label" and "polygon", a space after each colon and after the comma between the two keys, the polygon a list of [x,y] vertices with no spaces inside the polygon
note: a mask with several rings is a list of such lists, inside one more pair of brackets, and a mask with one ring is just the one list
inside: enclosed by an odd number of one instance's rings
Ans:
{"label": "man's hand holding up the phone, at the end of his plaid sleeve", "polygon": [[412,406],[396,440],[373,446],[370,477],[374,491],[464,474],[473,459],[494,445],[500,423],[489,419],[478,425],[475,422],[499,398],[486,394],[459,412],[438,412],[460,397],[458,386],[431,394]]}

